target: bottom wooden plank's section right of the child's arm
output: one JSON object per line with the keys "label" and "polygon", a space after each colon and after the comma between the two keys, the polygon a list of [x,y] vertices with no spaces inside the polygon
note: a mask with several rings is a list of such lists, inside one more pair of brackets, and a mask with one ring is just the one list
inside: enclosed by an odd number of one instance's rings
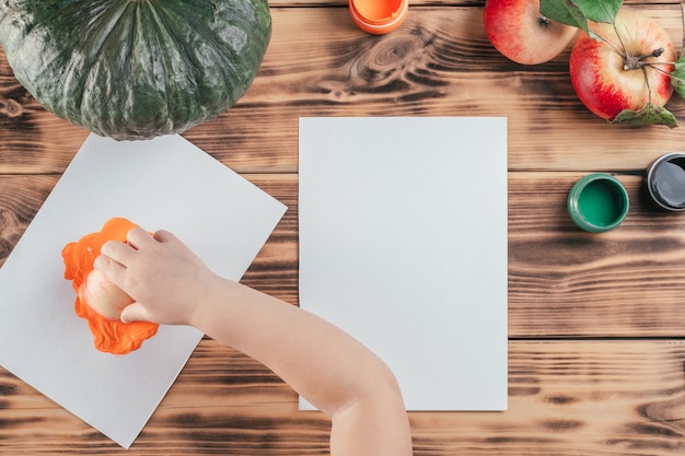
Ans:
{"label": "bottom wooden plank's section right of the child's arm", "polygon": [[416,454],[683,454],[684,348],[659,341],[510,343],[509,410],[417,414]]}

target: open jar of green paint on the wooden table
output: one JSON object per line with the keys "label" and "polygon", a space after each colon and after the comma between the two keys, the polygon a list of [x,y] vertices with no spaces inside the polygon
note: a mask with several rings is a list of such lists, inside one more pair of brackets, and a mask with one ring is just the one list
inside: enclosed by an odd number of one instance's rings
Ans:
{"label": "open jar of green paint on the wooden table", "polygon": [[595,173],[578,180],[568,194],[567,208],[573,223],[591,233],[615,229],[628,213],[629,198],[623,184],[608,174]]}

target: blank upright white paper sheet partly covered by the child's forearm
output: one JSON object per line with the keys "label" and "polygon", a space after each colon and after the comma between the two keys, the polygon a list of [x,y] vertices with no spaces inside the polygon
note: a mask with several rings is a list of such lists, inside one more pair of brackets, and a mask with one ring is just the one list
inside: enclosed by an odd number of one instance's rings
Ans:
{"label": "blank upright white paper sheet partly covered by the child's forearm", "polygon": [[407,409],[504,410],[507,119],[302,118],[299,179],[300,306]]}

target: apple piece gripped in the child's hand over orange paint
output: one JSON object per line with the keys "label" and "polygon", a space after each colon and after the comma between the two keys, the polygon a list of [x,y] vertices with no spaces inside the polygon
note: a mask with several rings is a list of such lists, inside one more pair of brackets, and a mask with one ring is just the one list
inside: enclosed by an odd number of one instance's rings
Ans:
{"label": "apple piece gripped in the child's hand over orange paint", "polygon": [[97,314],[111,320],[119,320],[124,307],[133,302],[97,269],[93,269],[83,281],[79,297]]}

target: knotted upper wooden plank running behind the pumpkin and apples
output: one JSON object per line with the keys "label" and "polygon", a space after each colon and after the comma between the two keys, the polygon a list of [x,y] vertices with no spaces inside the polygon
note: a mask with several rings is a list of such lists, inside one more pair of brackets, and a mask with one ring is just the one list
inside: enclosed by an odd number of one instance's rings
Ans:
{"label": "knotted upper wooden plank running behind the pumpkin and apples", "polygon": [[[680,49],[681,5],[640,9]],[[185,135],[239,172],[297,172],[301,116],[507,116],[513,171],[641,169],[685,140],[684,127],[596,118],[572,91],[568,50],[545,65],[515,65],[487,40],[477,7],[417,7],[384,36],[359,31],[345,8],[275,8],[272,16],[271,44],[247,94]],[[27,97],[3,56],[0,100],[0,173],[62,172],[86,131]],[[673,98],[669,107],[685,120],[685,101]]]}

